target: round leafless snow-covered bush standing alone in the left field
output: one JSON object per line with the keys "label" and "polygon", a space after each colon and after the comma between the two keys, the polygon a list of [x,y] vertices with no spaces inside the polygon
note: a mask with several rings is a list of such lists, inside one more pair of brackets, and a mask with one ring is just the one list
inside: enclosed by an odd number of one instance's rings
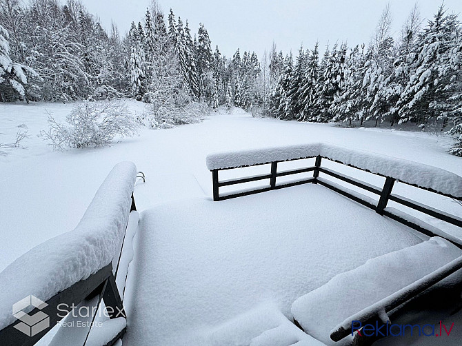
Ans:
{"label": "round leafless snow-covered bush standing alone in the left field", "polygon": [[43,139],[50,141],[55,149],[110,145],[115,138],[121,141],[139,130],[139,124],[121,101],[78,103],[66,117],[66,122],[58,123],[50,115],[50,129],[41,131]]}

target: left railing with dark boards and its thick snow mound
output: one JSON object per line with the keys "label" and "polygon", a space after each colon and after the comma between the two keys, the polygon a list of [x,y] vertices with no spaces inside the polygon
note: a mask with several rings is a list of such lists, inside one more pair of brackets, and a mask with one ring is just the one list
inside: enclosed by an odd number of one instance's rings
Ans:
{"label": "left railing with dark boards and its thick snow mound", "polygon": [[[136,178],[134,163],[115,165],[74,230],[37,245],[0,273],[1,345],[37,343],[50,327],[63,318],[62,309],[66,309],[60,305],[63,303],[71,307],[72,304],[93,301],[92,297],[96,297],[98,306],[102,298],[106,307],[112,308],[108,309],[110,318],[125,317],[119,294],[123,287],[117,287],[120,280],[116,276],[119,269],[119,272],[125,271],[119,274],[125,278],[128,267],[127,260],[121,259],[121,250],[130,212],[135,210],[132,193]],[[25,307],[19,314],[24,316],[29,313],[37,317],[35,314],[40,312],[41,316],[49,318],[47,323],[50,327],[41,332],[34,331],[32,317],[28,322],[18,314],[12,314],[14,304],[25,298],[34,301],[34,297],[48,305]],[[17,318],[21,321],[15,323]],[[23,327],[30,328],[32,336],[18,330],[21,323]],[[125,328],[117,338],[123,332]]]}

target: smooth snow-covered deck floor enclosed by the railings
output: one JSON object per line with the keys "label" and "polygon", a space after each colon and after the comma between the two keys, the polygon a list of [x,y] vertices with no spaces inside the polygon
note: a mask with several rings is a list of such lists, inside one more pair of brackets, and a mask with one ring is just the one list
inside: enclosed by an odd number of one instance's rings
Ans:
{"label": "smooth snow-covered deck floor enclosed by the railings", "polygon": [[[158,205],[141,213],[138,237],[126,345],[226,345],[237,334],[248,345],[278,326],[268,314],[291,318],[295,299],[334,275],[421,241],[313,184]],[[249,318],[262,304],[274,308]]]}

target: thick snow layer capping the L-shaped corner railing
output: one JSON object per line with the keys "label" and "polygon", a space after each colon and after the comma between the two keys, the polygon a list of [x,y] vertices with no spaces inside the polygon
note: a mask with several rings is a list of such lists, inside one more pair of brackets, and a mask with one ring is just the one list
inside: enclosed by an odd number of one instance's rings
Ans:
{"label": "thick snow layer capping the L-shaped corner railing", "polygon": [[206,162],[208,170],[221,170],[318,155],[372,173],[390,176],[403,183],[462,198],[462,177],[457,174],[423,163],[325,143],[221,152],[209,154]]}

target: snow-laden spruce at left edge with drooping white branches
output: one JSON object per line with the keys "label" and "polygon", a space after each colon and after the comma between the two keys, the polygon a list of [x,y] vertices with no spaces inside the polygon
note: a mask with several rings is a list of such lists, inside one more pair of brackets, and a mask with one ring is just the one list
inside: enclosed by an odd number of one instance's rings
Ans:
{"label": "snow-laden spruce at left edge with drooping white branches", "polygon": [[8,31],[0,25],[0,101],[28,101],[28,81],[30,78],[39,79],[39,74],[26,65],[12,61],[9,37]]}

